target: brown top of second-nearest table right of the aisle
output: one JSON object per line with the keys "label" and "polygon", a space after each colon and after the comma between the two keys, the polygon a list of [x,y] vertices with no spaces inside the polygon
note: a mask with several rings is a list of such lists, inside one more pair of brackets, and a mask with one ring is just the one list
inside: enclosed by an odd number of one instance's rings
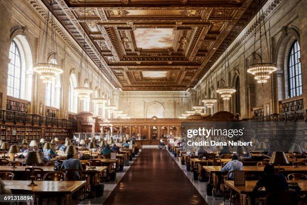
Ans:
{"label": "brown top of second-nearest table right of the aisle", "polygon": [[[275,168],[278,168],[278,166],[274,166]],[[307,171],[307,166],[298,166],[297,168],[294,168],[293,166],[280,166],[280,168],[283,168],[285,171],[291,171],[291,172],[298,172],[298,171]],[[218,173],[221,172],[222,166],[203,166],[203,169],[205,169],[207,172],[214,172]],[[264,167],[257,167],[257,166],[243,166],[242,171],[247,172],[258,172],[263,171]]]}

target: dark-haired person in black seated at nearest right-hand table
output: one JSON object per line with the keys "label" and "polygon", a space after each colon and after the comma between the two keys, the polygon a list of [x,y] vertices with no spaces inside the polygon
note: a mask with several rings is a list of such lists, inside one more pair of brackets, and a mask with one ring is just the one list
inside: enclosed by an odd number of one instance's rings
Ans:
{"label": "dark-haired person in black seated at nearest right-hand table", "polygon": [[286,178],[282,174],[275,173],[275,168],[271,164],[265,165],[264,175],[256,183],[253,191],[257,191],[261,187],[265,187],[266,192],[285,191],[289,189]]}

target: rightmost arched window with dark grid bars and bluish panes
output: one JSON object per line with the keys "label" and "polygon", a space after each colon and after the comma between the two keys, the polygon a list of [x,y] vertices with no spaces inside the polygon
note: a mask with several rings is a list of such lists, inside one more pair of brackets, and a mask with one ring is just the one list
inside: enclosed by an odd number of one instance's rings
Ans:
{"label": "rightmost arched window with dark grid bars and bluish panes", "polygon": [[288,82],[290,97],[295,97],[302,94],[300,47],[297,40],[294,41],[289,52]]}

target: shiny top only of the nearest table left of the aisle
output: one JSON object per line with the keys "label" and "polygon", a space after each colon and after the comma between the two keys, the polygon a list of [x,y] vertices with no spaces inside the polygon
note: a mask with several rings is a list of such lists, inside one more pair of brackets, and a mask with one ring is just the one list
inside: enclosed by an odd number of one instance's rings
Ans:
{"label": "shiny top only of the nearest table left of the aisle", "polygon": [[38,193],[71,194],[86,184],[86,181],[35,181],[37,186],[28,186],[31,181],[3,180],[6,188]]}

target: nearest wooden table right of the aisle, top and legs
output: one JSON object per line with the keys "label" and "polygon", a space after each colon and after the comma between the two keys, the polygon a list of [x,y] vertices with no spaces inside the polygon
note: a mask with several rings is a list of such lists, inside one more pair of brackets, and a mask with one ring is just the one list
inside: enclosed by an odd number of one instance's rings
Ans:
{"label": "nearest wooden table right of the aisle, top and legs", "polygon": [[[298,186],[301,188],[299,191],[295,191],[298,193],[306,194],[307,193],[307,180],[298,180],[298,181],[289,181],[289,182],[296,182]],[[251,196],[253,194],[253,188],[255,187],[257,181],[250,180],[245,181],[245,185],[234,185],[234,181],[228,180],[225,182],[231,190],[235,190],[240,194],[241,204],[242,205],[251,205],[254,204],[254,199]]]}

